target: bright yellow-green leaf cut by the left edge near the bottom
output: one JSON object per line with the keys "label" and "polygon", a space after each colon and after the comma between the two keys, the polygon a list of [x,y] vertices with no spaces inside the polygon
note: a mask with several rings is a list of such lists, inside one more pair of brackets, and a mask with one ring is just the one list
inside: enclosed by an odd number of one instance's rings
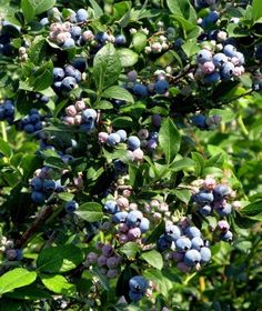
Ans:
{"label": "bright yellow-green leaf cut by the left edge near the bottom", "polygon": [[14,289],[31,284],[37,279],[34,271],[22,268],[13,269],[0,277],[0,295]]}

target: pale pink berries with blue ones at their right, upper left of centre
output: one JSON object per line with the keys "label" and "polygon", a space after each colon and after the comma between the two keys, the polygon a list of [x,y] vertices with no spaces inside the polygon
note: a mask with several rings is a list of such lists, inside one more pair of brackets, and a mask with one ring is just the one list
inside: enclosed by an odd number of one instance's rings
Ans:
{"label": "pale pink berries with blue ones at their right, upper left of centre", "polygon": [[83,132],[90,132],[94,129],[98,113],[94,109],[85,108],[83,100],[78,100],[74,104],[67,107],[66,113],[66,124],[79,126]]}

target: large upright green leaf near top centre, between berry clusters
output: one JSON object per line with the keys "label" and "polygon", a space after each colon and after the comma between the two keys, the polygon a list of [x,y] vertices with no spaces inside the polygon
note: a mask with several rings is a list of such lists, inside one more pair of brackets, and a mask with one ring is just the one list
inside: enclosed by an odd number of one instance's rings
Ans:
{"label": "large upright green leaf near top centre, between berry clusters", "polygon": [[121,72],[121,62],[112,43],[105,44],[93,60],[93,78],[98,90],[114,84]]}

